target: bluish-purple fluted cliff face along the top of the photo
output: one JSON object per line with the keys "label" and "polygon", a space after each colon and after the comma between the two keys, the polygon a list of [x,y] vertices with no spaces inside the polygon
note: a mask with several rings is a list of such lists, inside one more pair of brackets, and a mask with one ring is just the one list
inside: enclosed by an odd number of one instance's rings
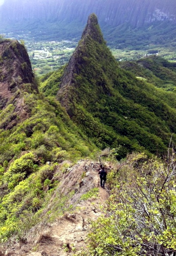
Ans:
{"label": "bluish-purple fluted cliff face along the top of the photo", "polygon": [[117,26],[130,23],[134,27],[154,21],[176,21],[175,0],[4,0],[0,21],[85,23],[92,12],[101,24]]}

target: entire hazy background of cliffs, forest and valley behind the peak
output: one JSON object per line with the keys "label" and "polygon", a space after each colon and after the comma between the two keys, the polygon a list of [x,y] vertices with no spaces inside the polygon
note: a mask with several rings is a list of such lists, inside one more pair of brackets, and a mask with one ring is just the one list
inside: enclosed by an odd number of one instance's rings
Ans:
{"label": "entire hazy background of cliffs, forest and valley behind the peak", "polygon": [[1,0],[0,34],[24,39],[32,66],[42,75],[68,62],[93,12],[116,60],[150,54],[176,60],[174,0]]}

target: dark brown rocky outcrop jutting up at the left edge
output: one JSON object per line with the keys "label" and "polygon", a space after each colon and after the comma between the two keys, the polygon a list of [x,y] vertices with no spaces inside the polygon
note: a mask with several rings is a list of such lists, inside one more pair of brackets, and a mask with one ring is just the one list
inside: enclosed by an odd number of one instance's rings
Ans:
{"label": "dark brown rocky outcrop jutting up at the left edge", "polygon": [[0,109],[21,91],[38,92],[25,47],[18,41],[0,43]]}

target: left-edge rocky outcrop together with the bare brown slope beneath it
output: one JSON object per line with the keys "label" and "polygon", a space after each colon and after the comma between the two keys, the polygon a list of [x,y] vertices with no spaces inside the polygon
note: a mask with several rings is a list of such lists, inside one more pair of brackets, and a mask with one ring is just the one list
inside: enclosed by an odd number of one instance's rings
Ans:
{"label": "left-edge rocky outcrop together with the bare brown slope beneath it", "polygon": [[[11,109],[11,117],[1,128],[10,128],[28,117],[24,93],[38,93],[29,56],[18,41],[0,42],[0,109]],[[1,115],[2,116],[2,115]]]}

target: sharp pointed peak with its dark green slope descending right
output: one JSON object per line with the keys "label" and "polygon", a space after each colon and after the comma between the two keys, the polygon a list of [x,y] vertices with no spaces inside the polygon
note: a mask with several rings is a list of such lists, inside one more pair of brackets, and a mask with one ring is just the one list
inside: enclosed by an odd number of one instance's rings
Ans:
{"label": "sharp pointed peak with its dark green slope descending right", "polygon": [[175,94],[119,68],[94,14],[59,87],[57,99],[82,131],[99,147],[125,145],[121,156],[144,148],[162,154],[176,132]]}

